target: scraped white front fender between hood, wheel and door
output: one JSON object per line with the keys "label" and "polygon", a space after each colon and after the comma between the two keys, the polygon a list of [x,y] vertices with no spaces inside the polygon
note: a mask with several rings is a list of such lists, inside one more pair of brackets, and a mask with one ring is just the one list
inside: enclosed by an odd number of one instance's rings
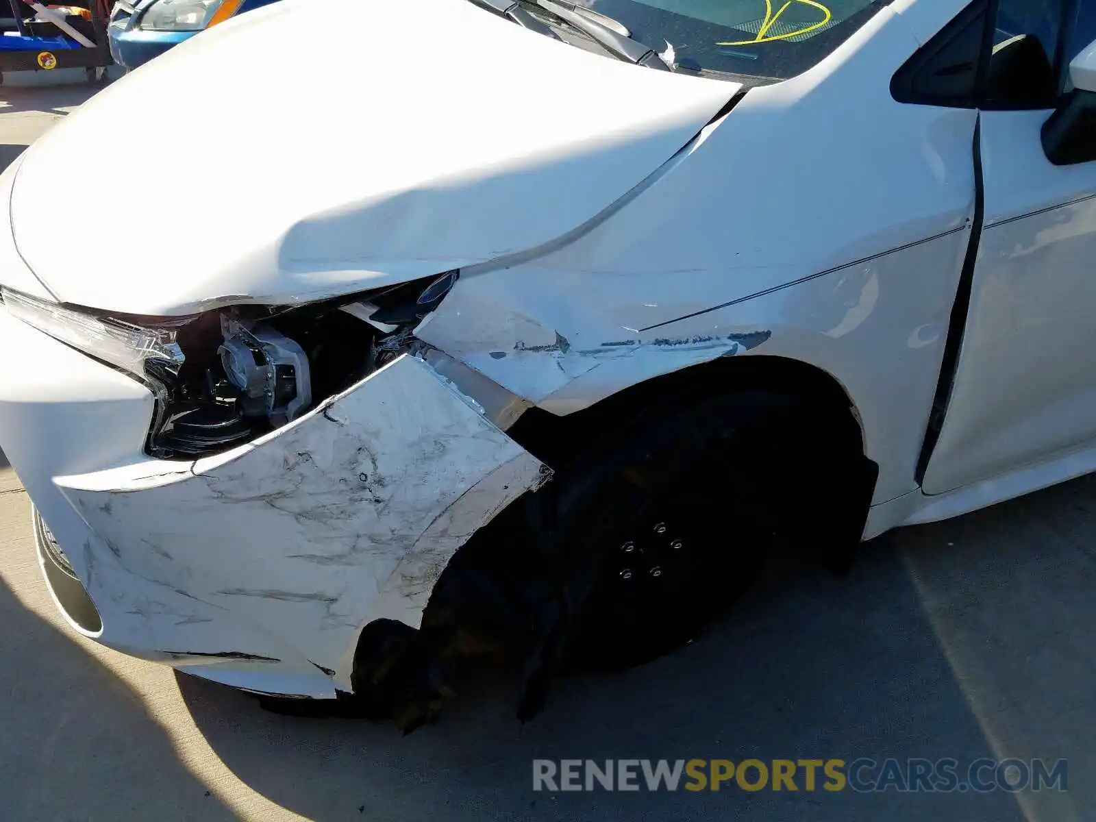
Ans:
{"label": "scraped white front fender between hood, wheel and door", "polygon": [[811,71],[751,90],[569,242],[465,270],[416,333],[571,413],[768,332],[751,355],[818,365],[852,396],[875,501],[913,490],[973,215],[975,114],[894,102],[889,78],[917,47],[906,22],[883,11]]}

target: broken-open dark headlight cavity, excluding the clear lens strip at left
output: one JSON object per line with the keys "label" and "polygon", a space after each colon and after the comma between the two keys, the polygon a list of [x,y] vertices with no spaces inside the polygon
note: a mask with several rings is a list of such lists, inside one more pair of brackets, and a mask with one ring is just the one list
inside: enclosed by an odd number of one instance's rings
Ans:
{"label": "broken-open dark headlight cavity, excluding the clear lens strip at left", "polygon": [[149,453],[161,458],[226,450],[297,419],[414,344],[412,329],[456,272],[296,307],[238,306],[191,318],[185,352],[162,386]]}

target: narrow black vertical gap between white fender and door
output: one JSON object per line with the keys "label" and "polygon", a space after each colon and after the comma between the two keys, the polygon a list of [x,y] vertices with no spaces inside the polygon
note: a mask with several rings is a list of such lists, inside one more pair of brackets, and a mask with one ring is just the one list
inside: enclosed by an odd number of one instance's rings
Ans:
{"label": "narrow black vertical gap between white fender and door", "polygon": [[959,352],[962,349],[963,335],[967,332],[967,316],[970,312],[970,296],[974,285],[974,266],[978,263],[978,249],[982,240],[982,224],[985,220],[985,185],[982,181],[982,119],[974,123],[974,220],[970,227],[970,242],[967,255],[963,258],[962,272],[959,275],[959,288],[956,300],[951,305],[951,317],[948,323],[948,336],[944,343],[944,356],[940,359],[940,375],[936,383],[936,393],[933,397],[933,409],[928,415],[928,426],[925,439],[917,457],[917,470],[914,478],[921,486],[928,469],[928,460],[940,438],[944,418],[951,400],[951,388],[955,385],[956,372],[959,368]]}

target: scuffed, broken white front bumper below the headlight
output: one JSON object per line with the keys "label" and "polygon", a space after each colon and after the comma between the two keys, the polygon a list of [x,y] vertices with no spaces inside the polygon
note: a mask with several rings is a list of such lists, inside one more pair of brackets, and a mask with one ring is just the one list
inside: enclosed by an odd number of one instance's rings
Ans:
{"label": "scuffed, broken white front bumper below the headlight", "polygon": [[[2,308],[0,350],[19,352],[0,361],[0,447],[72,627],[249,690],[350,690],[362,628],[416,627],[460,545],[546,476],[408,355],[252,443],[164,461],[142,452],[144,386]],[[98,623],[50,574],[49,533]]]}

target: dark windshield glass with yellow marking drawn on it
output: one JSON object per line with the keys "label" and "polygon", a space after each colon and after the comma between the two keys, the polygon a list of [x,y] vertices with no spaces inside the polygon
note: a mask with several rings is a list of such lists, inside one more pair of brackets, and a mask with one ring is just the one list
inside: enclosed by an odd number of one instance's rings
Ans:
{"label": "dark windshield glass with yellow marking drawn on it", "polygon": [[806,71],[890,0],[573,2],[624,24],[663,59],[672,57],[678,70],[765,81]]}

